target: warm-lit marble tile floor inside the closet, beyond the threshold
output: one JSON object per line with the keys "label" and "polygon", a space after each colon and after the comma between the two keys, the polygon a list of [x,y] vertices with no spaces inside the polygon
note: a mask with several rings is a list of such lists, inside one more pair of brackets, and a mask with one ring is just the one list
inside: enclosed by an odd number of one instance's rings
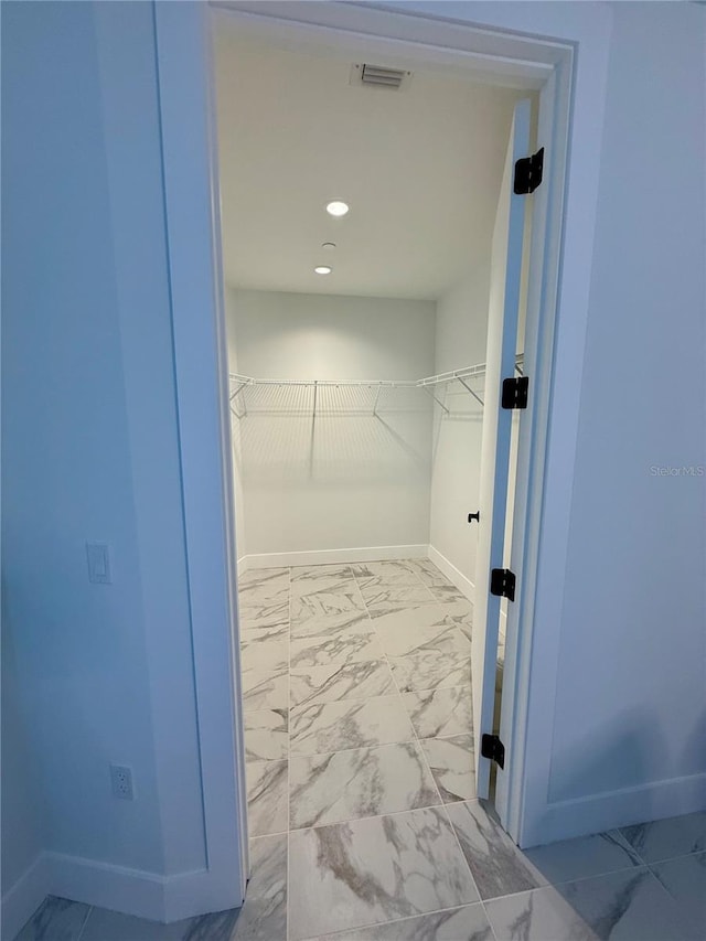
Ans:
{"label": "warm-lit marble tile floor inside the closet, beyond the threshold", "polygon": [[427,559],[240,579],[254,837],[473,800],[472,606]]}

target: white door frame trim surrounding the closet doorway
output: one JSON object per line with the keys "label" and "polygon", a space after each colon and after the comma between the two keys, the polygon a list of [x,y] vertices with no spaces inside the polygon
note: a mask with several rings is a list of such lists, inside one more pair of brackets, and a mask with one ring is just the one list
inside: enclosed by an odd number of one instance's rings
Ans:
{"label": "white door frame trim surrounding the closet doorway", "polygon": [[[438,2],[391,9],[353,2],[257,0],[153,4],[212,910],[242,901],[247,874],[236,534],[211,42],[214,11],[238,18],[243,29],[270,31],[297,43],[319,44],[323,40],[345,47],[359,46],[364,40],[366,50],[411,56],[419,66],[463,68],[494,84],[522,81],[522,87],[543,89],[544,127],[550,129],[542,188],[546,194],[546,238],[543,250],[533,252],[530,278],[542,372],[531,379],[536,382],[536,392],[531,395],[525,425],[532,429],[532,447],[524,449],[517,469],[515,512],[520,516],[515,518],[522,520],[524,553],[517,602],[521,643],[512,645],[509,638],[512,650],[504,678],[512,689],[506,746],[513,758],[502,796],[505,826],[516,843],[526,846],[542,842],[548,804],[547,728],[553,724],[561,612],[555,586],[547,585],[546,578],[547,570],[553,579],[564,571],[569,509],[566,491],[570,488],[552,490],[550,501],[547,493],[558,473],[573,474],[575,459],[600,162],[597,127],[602,127],[610,26],[609,14],[595,4],[586,4],[593,8],[590,11],[576,9],[567,23],[565,10],[550,9],[565,6]],[[451,11],[468,19],[446,19]],[[537,30],[542,29],[546,36],[563,39],[538,38]],[[579,42],[580,69],[575,55]],[[580,192],[577,188],[566,191],[569,141],[587,146],[580,157],[571,156],[571,171],[576,168],[584,174]],[[566,309],[571,309],[570,319],[560,316]],[[528,310],[528,319],[532,316]],[[560,396],[555,395],[557,388]],[[536,630],[537,623],[542,623],[542,631]],[[538,656],[541,674],[547,680],[542,689],[534,688],[533,682]],[[204,910],[194,899],[194,907],[200,906]]]}

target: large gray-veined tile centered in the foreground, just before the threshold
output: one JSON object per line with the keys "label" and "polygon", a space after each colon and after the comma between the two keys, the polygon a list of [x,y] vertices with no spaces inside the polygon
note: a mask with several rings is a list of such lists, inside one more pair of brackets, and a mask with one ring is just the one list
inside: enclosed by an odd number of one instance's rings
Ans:
{"label": "large gray-veined tile centered in the foreground, just before the threshold", "polygon": [[439,810],[293,831],[289,854],[292,941],[478,901]]}

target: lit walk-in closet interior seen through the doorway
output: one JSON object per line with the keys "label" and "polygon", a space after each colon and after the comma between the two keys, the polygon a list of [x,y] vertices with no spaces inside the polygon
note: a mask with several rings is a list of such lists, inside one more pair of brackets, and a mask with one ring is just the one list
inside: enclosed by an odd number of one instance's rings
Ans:
{"label": "lit walk-in closet interior seen through the doorway", "polygon": [[404,65],[216,36],[249,833],[290,853],[475,806],[469,514],[523,93]]}

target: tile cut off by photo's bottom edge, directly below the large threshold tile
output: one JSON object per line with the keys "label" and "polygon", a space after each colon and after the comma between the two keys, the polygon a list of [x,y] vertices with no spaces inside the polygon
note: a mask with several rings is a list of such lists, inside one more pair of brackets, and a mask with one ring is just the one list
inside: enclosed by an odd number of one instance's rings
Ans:
{"label": "tile cut off by photo's bottom edge, directly below the large threshold tile", "polygon": [[386,924],[327,934],[313,941],[494,941],[494,937],[483,906],[477,902]]}

